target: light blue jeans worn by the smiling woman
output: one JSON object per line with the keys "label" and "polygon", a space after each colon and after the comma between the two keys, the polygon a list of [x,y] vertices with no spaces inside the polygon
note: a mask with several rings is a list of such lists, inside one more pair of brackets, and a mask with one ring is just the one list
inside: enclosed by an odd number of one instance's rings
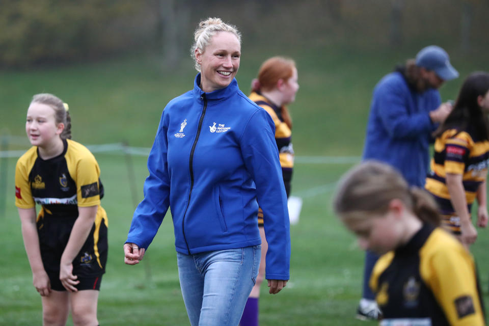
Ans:
{"label": "light blue jeans worn by the smiling woman", "polygon": [[255,285],[261,246],[177,253],[183,301],[192,326],[237,326]]}

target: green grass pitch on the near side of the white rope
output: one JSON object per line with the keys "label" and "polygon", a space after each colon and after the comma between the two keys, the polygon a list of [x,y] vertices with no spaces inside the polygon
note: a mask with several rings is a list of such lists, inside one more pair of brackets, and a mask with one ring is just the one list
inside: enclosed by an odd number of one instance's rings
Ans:
{"label": "green grass pitch on the near side of the white rope", "polygon": [[[142,199],[147,174],[145,157],[133,156],[137,189],[131,189],[124,156],[98,153],[97,160],[105,186],[103,207],[109,218],[110,251],[99,297],[98,316],[102,325],[186,325],[188,324],[178,283],[173,225],[165,219],[141,264],[123,263],[122,244],[130,225],[133,201],[131,190]],[[9,173],[15,160],[9,159]],[[292,192],[303,196],[300,222],[291,227],[291,280],[278,295],[269,295],[262,286],[260,321],[264,325],[373,325],[354,319],[361,290],[363,253],[333,216],[332,190],[316,194],[311,188],[334,183],[351,165],[298,164]],[[8,189],[13,180],[7,181]],[[308,191],[309,190],[309,191]],[[32,276],[23,248],[20,222],[8,197],[0,237],[8,239],[0,266],[0,324],[31,325],[41,320],[41,301],[32,286]],[[473,252],[481,272],[485,302],[489,302],[489,262],[486,248],[489,235],[479,230]],[[487,305],[486,305],[487,306]],[[487,309],[487,307],[486,307]]]}

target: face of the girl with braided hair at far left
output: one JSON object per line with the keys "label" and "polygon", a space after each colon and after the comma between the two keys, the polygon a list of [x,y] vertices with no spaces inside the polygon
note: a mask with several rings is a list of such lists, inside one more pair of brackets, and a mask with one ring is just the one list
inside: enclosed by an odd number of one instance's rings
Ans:
{"label": "face of the girl with braided hair at far left", "polygon": [[55,110],[46,104],[32,102],[27,111],[25,132],[33,146],[49,147],[57,141],[64,129],[62,123],[56,123]]}

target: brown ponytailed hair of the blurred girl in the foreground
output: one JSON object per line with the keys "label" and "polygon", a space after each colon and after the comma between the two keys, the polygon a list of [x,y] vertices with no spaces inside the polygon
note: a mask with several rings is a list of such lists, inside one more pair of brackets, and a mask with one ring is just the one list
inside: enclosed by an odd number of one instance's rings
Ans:
{"label": "brown ponytailed hair of the blurred girl in the foreground", "polygon": [[341,178],[333,200],[341,218],[367,219],[372,213],[385,213],[393,199],[401,200],[418,218],[434,226],[441,216],[431,195],[408,182],[394,168],[382,162],[365,161]]}

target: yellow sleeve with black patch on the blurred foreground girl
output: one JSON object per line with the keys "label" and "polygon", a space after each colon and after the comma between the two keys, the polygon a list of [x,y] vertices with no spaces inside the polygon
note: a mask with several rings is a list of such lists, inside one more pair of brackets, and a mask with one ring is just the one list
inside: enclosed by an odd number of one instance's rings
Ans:
{"label": "yellow sleeve with black patch on the blurred foreground girl", "polygon": [[463,248],[438,250],[425,270],[425,280],[442,307],[450,325],[482,326],[483,312],[477,291],[472,257]]}

